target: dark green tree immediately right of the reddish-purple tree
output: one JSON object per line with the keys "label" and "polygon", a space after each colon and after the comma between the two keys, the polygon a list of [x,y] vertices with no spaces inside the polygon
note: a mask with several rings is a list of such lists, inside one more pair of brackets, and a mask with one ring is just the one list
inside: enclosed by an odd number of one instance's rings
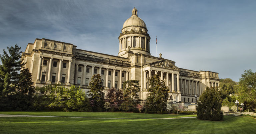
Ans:
{"label": "dark green tree immediately right of the reddish-purple tree", "polygon": [[121,109],[131,111],[136,108],[136,105],[141,102],[138,92],[140,91],[138,80],[128,80],[124,82],[124,102],[121,104]]}

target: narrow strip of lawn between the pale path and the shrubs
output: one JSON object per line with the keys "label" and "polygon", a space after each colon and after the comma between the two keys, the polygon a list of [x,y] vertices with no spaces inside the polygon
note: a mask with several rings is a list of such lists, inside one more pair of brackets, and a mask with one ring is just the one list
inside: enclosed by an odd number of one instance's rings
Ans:
{"label": "narrow strip of lawn between the pale path and the shrubs", "polygon": [[144,114],[127,112],[0,112],[0,114],[16,115],[42,115],[42,116],[67,116],[67,117],[93,117],[93,118],[175,118],[193,117],[196,115],[172,115],[172,114]]}

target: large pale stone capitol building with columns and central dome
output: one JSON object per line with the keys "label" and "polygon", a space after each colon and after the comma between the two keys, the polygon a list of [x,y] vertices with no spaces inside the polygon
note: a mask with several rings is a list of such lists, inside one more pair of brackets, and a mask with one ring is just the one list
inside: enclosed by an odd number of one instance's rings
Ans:
{"label": "large pale stone capitol building with columns and central dome", "polygon": [[[157,74],[169,88],[169,101],[195,103],[206,87],[219,86],[218,73],[179,68],[175,62],[150,55],[150,36],[136,8],[121,29],[118,56],[78,49],[71,43],[35,39],[23,53],[25,68],[32,73],[35,86],[76,85],[88,91],[90,79],[100,74],[104,92],[121,89],[124,81],[139,80],[142,100],[146,100],[148,79]],[[118,43],[116,44],[118,47]]]}

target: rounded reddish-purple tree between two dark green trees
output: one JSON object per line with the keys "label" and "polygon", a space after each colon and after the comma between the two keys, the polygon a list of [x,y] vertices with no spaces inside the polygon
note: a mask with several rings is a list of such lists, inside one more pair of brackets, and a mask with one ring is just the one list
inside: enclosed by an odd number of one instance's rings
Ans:
{"label": "rounded reddish-purple tree between two dark green trees", "polygon": [[112,87],[111,89],[108,90],[106,94],[106,99],[108,99],[110,103],[110,107],[112,107],[113,110],[118,109],[118,107],[123,102],[123,92],[120,89],[116,89]]}

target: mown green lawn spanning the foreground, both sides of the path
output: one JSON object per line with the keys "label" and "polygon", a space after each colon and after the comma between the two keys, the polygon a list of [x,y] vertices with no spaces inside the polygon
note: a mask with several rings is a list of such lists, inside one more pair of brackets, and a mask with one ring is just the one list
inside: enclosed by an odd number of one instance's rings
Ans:
{"label": "mown green lawn spanning the foreground, both sides of the path", "polygon": [[[10,112],[5,112],[10,114]],[[13,112],[15,113],[15,112]],[[22,114],[22,112],[18,112]],[[43,112],[24,112],[33,113]],[[46,115],[52,112],[45,112]],[[62,114],[61,114],[62,113]],[[128,118],[139,118],[135,113],[85,113],[60,112],[58,115],[92,117],[94,114],[107,117],[121,115]],[[71,114],[70,114],[71,113]],[[3,114],[0,112],[0,114]],[[17,113],[16,113],[17,114]],[[139,114],[139,113],[138,113]],[[56,115],[56,114],[53,114]],[[156,114],[140,114],[155,117]],[[160,115],[162,116],[167,115]],[[169,115],[171,116],[171,115]],[[121,117],[119,117],[121,118]],[[149,117],[148,117],[149,118]],[[204,121],[196,118],[183,119],[84,119],[53,117],[0,117],[0,133],[255,133],[256,120],[249,117],[224,116],[223,121]]]}

